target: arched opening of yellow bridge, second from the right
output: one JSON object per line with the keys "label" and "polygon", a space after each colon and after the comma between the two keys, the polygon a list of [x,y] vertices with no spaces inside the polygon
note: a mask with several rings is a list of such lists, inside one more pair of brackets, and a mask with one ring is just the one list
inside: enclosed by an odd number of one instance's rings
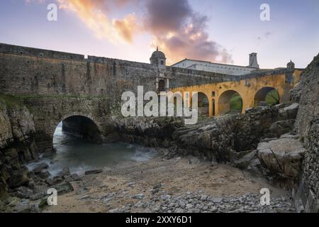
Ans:
{"label": "arched opening of yellow bridge, second from the right", "polygon": [[233,90],[221,94],[218,99],[218,114],[237,113],[242,113],[242,96]]}

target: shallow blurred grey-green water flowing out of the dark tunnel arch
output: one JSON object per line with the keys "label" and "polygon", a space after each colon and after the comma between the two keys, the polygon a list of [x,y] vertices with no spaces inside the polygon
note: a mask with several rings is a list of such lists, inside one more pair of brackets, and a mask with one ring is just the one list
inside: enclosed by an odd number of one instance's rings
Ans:
{"label": "shallow blurred grey-green water flowing out of the dark tunnel arch", "polygon": [[[63,167],[72,173],[84,174],[86,170],[103,169],[121,165],[123,162],[145,162],[155,156],[155,150],[128,143],[96,144],[75,138],[62,132],[62,123],[57,126],[53,145],[57,153],[45,158],[51,175],[57,175]],[[32,170],[40,162],[28,165]]]}

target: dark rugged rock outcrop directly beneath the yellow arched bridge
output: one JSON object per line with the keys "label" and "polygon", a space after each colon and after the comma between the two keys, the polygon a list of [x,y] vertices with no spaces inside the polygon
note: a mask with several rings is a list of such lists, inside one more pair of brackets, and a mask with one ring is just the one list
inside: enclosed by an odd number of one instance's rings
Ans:
{"label": "dark rugged rock outcrop directly beneath the yellow arched bridge", "polygon": [[298,104],[259,106],[247,114],[207,118],[184,125],[181,118],[124,118],[115,127],[121,139],[151,147],[169,148],[177,155],[195,155],[232,162],[241,152],[254,150],[263,138],[293,132]]}

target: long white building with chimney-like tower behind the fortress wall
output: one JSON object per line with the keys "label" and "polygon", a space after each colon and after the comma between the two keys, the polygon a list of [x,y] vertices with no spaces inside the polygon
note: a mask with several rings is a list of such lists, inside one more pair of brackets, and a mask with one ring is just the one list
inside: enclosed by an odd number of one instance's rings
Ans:
{"label": "long white building with chimney-like tower behind the fortress wall", "polygon": [[255,52],[250,54],[250,65],[247,67],[240,65],[219,64],[201,60],[191,60],[187,58],[175,63],[174,65],[172,65],[172,67],[180,67],[190,70],[201,70],[206,72],[216,72],[221,74],[231,74],[235,76],[249,74],[250,72],[259,69],[259,65],[257,63],[257,53]]}

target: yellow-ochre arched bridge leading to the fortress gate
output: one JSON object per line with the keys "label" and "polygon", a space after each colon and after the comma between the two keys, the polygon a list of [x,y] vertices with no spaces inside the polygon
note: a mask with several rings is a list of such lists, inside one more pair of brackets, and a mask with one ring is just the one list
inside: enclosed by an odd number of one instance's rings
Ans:
{"label": "yellow-ochre arched bridge leading to the fortress gate", "polygon": [[[242,98],[242,113],[266,101],[269,92],[276,90],[279,102],[290,101],[289,92],[300,81],[302,70],[264,70],[258,74],[242,76],[235,81],[184,86],[172,92],[198,92],[198,109],[202,114],[218,116],[230,111],[230,99],[234,94]],[[191,100],[190,100],[191,101]],[[207,108],[205,108],[205,102]]]}

